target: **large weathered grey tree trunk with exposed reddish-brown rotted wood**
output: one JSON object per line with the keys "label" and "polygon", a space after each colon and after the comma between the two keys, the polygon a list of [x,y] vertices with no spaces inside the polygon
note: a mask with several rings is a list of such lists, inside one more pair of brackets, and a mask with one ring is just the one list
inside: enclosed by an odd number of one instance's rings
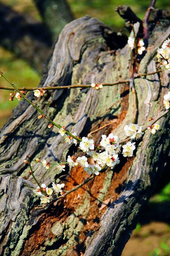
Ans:
{"label": "large weathered grey tree trunk with exposed reddish-brown rotted wood", "polygon": [[[155,25],[149,38],[154,44],[141,61],[139,73],[156,71],[153,58],[169,36],[169,25],[168,22]],[[122,44],[122,40],[120,36],[116,44]],[[129,78],[131,49],[126,45],[115,52],[108,51],[108,45],[114,48],[113,32],[104,23],[89,16],[72,21],[58,38],[40,86],[109,83]],[[164,72],[160,76],[135,79],[139,125],[148,125],[148,117],[156,118],[164,112],[162,100],[168,83]],[[76,88],[47,92],[41,99],[35,99],[31,92],[27,98],[54,122],[65,125],[70,132],[76,131],[78,136],[87,136],[95,124],[100,127],[114,119],[112,125],[89,135],[96,144],[102,134],[109,132],[124,139],[123,127],[133,116],[133,97],[128,84],[99,91]],[[82,152],[65,144],[58,129],[49,130],[48,121],[37,116],[35,108],[21,101],[1,131],[2,255],[121,255],[142,206],[149,200],[168,161],[169,113],[160,119],[160,129],[155,135],[146,132],[136,141],[133,158],[126,160],[120,156],[120,164],[114,170],[108,168],[101,172],[46,210],[35,209],[39,199],[32,193],[36,184],[23,162],[26,155],[54,162],[65,161],[67,155],[82,156]],[[40,183],[50,186],[53,181],[61,181],[67,190],[89,177],[79,167],[60,173],[55,165],[49,170],[34,161],[31,165]],[[110,204],[106,211],[102,202]]]}

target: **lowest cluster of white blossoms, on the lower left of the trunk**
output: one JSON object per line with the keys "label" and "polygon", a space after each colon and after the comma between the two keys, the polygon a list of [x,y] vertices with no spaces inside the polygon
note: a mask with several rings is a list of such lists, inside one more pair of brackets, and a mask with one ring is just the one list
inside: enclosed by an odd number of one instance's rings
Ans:
{"label": "lowest cluster of white blossoms, on the lower left of the trunk", "polygon": [[[47,194],[47,196],[43,194],[43,191],[41,190],[41,188]],[[48,188],[46,187],[45,183],[43,183],[41,185],[41,188],[38,186],[36,189],[33,189],[33,192],[36,196],[40,196],[41,203],[47,204],[47,203],[50,203],[49,196],[51,196],[53,192],[55,192],[56,194],[60,193],[61,195],[64,194],[63,190],[65,189],[65,184],[64,183],[55,184],[54,182],[52,182],[52,188]]]}

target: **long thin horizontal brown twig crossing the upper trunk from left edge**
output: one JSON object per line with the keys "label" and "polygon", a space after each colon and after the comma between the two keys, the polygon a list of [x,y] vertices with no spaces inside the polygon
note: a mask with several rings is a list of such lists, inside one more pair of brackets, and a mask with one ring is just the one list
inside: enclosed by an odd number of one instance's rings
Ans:
{"label": "long thin horizontal brown twig crossing the upper trunk from left edge", "polygon": [[[0,71],[0,73],[3,76],[3,73]],[[5,78],[5,77],[4,77]],[[124,84],[124,83],[129,83],[129,79],[121,80],[121,81],[116,81],[114,83],[106,83],[102,84],[103,86],[112,86],[116,84]],[[56,86],[56,87],[35,87],[35,88],[25,88],[25,87],[19,87],[17,88],[19,91],[34,91],[34,90],[62,90],[62,89],[72,89],[72,88],[90,88],[91,84],[73,84],[73,85],[68,85],[68,86]],[[14,91],[12,87],[6,87],[6,86],[1,86],[0,89],[2,90],[11,90]]]}

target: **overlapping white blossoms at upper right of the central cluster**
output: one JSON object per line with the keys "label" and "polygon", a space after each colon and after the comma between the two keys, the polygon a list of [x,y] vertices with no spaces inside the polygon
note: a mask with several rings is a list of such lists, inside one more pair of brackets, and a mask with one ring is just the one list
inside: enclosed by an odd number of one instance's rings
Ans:
{"label": "overlapping white blossoms at upper right of the central cluster", "polygon": [[131,139],[139,139],[144,134],[144,132],[142,132],[142,126],[132,123],[125,125],[124,131],[127,136],[130,136]]}

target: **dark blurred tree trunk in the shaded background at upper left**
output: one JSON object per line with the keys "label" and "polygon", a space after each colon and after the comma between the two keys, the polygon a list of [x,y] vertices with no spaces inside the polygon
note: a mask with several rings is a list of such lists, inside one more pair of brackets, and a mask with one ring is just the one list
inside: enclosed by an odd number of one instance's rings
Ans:
{"label": "dark blurred tree trunk in the shaded background at upper left", "polygon": [[52,52],[52,44],[73,16],[64,0],[36,0],[35,3],[43,22],[0,3],[0,45],[27,60],[41,73],[44,62]]}

